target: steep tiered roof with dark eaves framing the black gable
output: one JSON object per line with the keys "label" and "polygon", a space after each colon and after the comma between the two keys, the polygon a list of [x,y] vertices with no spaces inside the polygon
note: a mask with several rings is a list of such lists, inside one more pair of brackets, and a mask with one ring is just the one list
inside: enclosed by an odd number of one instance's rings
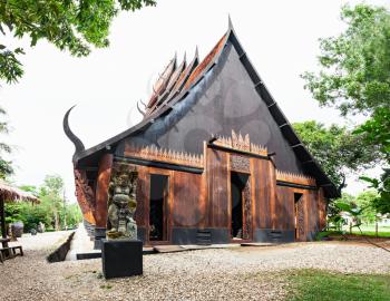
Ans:
{"label": "steep tiered roof with dark eaves framing the black gable", "polygon": [[[238,54],[240,61],[242,62],[251,80],[253,81],[254,89],[257,91],[261,99],[263,99],[263,101],[266,104],[270,110],[270,114],[272,115],[273,119],[277,124],[285,139],[289,142],[296,157],[302,163],[306,173],[316,179],[316,183],[319,186],[324,188],[326,197],[338,197],[340,195],[340,192],[337,190],[334,184],[322,171],[318,162],[313,158],[313,156],[308,152],[305,146],[302,144],[302,142],[295,134],[294,129],[292,128],[291,124],[284,116],[279,105],[276,104],[276,101],[270,94],[269,89],[266,88],[265,84],[263,82],[263,80],[256,72],[255,68],[251,64],[246,52],[244,51],[243,47],[241,46],[236,37],[236,33],[233,29],[231,20],[228,22],[227,32],[220,39],[220,41],[212,49],[212,51],[204,58],[204,60],[197,65],[197,51],[196,51],[194,60],[188,65],[187,68],[181,71],[181,75],[178,76],[176,84],[170,88],[170,91],[168,93],[164,101],[159,101],[158,105],[156,105],[158,97],[164,95],[165,89],[168,87],[169,79],[175,71],[176,65],[173,66],[173,61],[168,65],[168,67],[165,70],[165,74],[167,74],[167,76],[165,76],[164,80],[162,80],[162,86],[159,86],[159,90],[156,91],[150,97],[149,105],[147,106],[149,110],[147,111],[143,122],[120,133],[119,135],[114,136],[110,139],[107,139],[104,143],[100,143],[89,149],[85,149],[82,152],[76,153],[74,155],[74,163],[76,165],[80,164],[81,166],[88,166],[89,164],[94,164],[94,163],[96,164],[96,159],[100,156],[101,153],[109,152],[109,149],[115,148],[120,140],[125,139],[130,135],[134,135],[135,133],[142,132],[144,128],[153,124],[154,120],[159,116],[169,114],[169,110],[172,110],[172,106],[175,105],[177,101],[181,101],[183,98],[185,98],[188,91],[199,80],[202,80],[202,78],[211,68],[214,67],[214,65],[218,60],[218,57],[222,54],[222,50],[226,46],[227,41],[230,41],[235,48],[236,52]],[[176,64],[176,59],[174,64]],[[153,110],[150,109],[152,107],[153,107]]]}

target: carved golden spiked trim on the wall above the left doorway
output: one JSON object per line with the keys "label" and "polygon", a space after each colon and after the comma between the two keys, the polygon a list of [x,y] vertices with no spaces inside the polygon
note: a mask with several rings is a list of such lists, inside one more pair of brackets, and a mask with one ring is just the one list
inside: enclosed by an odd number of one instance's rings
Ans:
{"label": "carved golden spiked trim on the wall above the left doorway", "polygon": [[126,145],[125,155],[148,161],[158,161],[203,168],[203,155],[176,152],[152,146]]}

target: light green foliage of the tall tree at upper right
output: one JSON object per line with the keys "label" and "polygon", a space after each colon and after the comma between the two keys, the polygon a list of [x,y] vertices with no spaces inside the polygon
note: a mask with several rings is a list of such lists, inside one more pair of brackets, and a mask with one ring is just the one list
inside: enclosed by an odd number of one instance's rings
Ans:
{"label": "light green foliage of the tall tree at upper right", "polygon": [[373,111],[390,98],[390,13],[384,8],[345,6],[347,30],[320,40],[319,75],[305,72],[306,88],[321,105],[343,115]]}

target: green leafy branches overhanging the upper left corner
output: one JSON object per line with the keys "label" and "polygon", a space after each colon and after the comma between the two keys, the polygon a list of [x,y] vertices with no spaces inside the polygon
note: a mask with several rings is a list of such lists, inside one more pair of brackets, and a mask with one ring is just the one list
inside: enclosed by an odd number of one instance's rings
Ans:
{"label": "green leafy branches overhanging the upper left corner", "polygon": [[[155,0],[0,0],[0,31],[16,38],[28,36],[30,46],[46,39],[72,56],[88,56],[91,47],[109,45],[110,23],[119,11],[155,6]],[[14,82],[23,75],[21,47],[0,45],[0,79]]]}

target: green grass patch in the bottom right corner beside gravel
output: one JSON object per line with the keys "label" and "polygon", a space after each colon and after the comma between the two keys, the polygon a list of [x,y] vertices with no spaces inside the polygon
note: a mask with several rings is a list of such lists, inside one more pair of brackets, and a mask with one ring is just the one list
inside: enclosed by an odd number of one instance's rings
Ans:
{"label": "green grass patch in the bottom right corner beside gravel", "polygon": [[298,270],[287,275],[292,283],[287,300],[390,300],[390,274],[343,274],[320,270]]}

